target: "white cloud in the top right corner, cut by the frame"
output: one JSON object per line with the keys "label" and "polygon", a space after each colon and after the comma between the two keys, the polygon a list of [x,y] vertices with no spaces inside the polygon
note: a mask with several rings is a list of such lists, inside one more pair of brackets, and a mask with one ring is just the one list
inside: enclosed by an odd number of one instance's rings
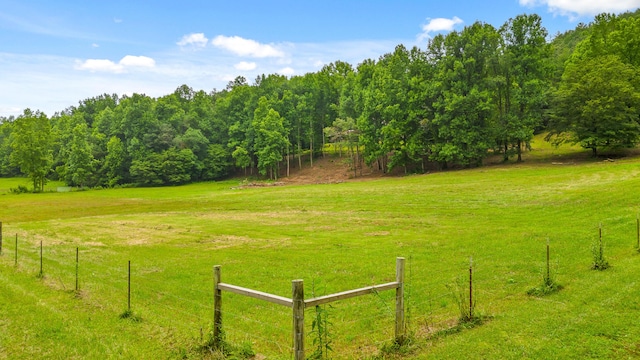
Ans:
{"label": "white cloud in the top right corner, cut by the frame", "polygon": [[520,5],[547,6],[549,12],[574,18],[603,12],[619,13],[640,7],[640,0],[519,0]]}

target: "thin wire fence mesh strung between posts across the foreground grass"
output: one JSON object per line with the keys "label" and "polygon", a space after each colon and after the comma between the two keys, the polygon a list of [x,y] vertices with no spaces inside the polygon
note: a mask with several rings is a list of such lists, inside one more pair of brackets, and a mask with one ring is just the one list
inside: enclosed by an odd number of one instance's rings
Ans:
{"label": "thin wire fence mesh strung between posts across the foreground grass", "polygon": [[[52,290],[74,293],[80,301],[99,303],[102,311],[113,312],[114,316],[126,310],[127,279],[131,276],[131,307],[135,313],[167,328],[176,327],[179,319],[177,328],[183,332],[181,337],[194,345],[205,344],[210,337],[213,283],[209,270],[193,274],[145,261],[144,264],[133,262],[129,274],[126,263],[114,264],[107,259],[108,254],[104,251],[108,252],[108,249],[75,247],[38,237],[30,239],[29,236],[20,233],[13,237],[5,233],[0,264],[32,273]],[[496,252],[500,250],[485,248],[468,258],[451,261],[454,265],[446,269],[437,263],[429,264],[428,256],[409,256],[405,323],[412,336],[429,338],[455,327],[461,317],[461,308],[465,306],[474,307],[481,314],[494,314],[496,304],[503,306],[506,299],[521,296],[524,287],[540,283],[547,266],[544,242],[536,240],[532,245],[532,239],[522,237],[508,246],[539,247],[539,253],[528,251],[526,256],[510,263],[500,263],[495,261]],[[585,259],[591,258],[590,246],[573,247],[571,256],[563,261],[555,254],[564,250],[563,244],[552,242],[551,249],[551,272],[562,284],[572,284],[588,269],[589,261]],[[624,256],[622,251],[608,254],[612,261]],[[523,267],[523,264],[528,266]],[[470,267],[473,269],[475,302],[464,304],[468,300],[464,294],[469,294]],[[523,268],[529,271],[523,272]],[[335,284],[331,285],[335,287]],[[322,283],[316,286],[314,282],[307,297],[327,295],[328,287]],[[225,341],[249,344],[264,354],[293,357],[290,309],[231,293],[225,294],[224,303]],[[375,355],[394,339],[394,304],[393,292],[380,292],[308,308],[304,324],[307,354],[322,352],[323,346],[330,345],[331,356],[335,358],[340,357],[338,354],[356,358]],[[320,311],[326,316],[324,334],[318,331],[316,322],[320,319]]]}

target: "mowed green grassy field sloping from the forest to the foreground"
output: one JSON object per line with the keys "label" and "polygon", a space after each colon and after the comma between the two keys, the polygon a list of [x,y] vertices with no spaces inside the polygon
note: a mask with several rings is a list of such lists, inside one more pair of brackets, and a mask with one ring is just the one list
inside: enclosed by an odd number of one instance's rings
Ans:
{"label": "mowed green grassy field sloping from the forest to the foreground", "polygon": [[[636,358],[640,159],[576,151],[541,144],[523,164],[325,185],[13,195],[2,189],[15,180],[0,179],[0,358],[201,358],[213,265],[224,282],[285,297],[304,279],[309,298],[393,281],[398,256],[408,259],[406,358]],[[612,267],[593,271],[600,223]],[[531,297],[547,239],[564,288]],[[453,331],[451,286],[470,257],[485,322]],[[120,319],[129,260],[136,318]],[[400,356],[380,352],[393,337],[393,296],[326,308],[333,358]],[[292,358],[289,309],[225,293],[223,319],[229,342]]]}

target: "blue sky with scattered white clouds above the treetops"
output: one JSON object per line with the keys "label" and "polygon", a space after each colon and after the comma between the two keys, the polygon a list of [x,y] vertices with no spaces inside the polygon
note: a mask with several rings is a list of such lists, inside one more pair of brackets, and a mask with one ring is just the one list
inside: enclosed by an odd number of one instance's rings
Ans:
{"label": "blue sky with scattered white clouds above the treetops", "polygon": [[158,97],[236,76],[357,65],[479,20],[537,13],[553,35],[640,0],[0,0],[0,116],[51,116],[103,93]]}

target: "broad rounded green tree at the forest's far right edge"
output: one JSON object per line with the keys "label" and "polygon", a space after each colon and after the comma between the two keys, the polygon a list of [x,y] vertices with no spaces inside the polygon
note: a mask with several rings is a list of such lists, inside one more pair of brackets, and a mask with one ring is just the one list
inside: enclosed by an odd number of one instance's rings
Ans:
{"label": "broad rounded green tree at the forest's far right edge", "polygon": [[617,56],[567,66],[554,101],[549,138],[591,149],[633,147],[640,140],[638,70]]}

